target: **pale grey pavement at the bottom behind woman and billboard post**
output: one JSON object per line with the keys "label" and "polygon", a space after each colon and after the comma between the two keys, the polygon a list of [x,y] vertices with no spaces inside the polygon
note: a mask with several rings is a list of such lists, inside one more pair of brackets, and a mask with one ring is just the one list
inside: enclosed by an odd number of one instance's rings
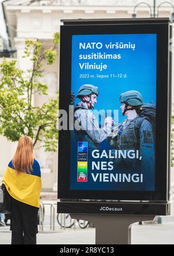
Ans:
{"label": "pale grey pavement at the bottom behind woman and billboard post", "polygon": [[[174,222],[161,224],[132,225],[132,244],[174,244]],[[9,226],[0,227],[0,244],[10,244]],[[55,231],[44,226],[44,232],[37,235],[37,244],[95,244],[95,228],[60,229]]]}

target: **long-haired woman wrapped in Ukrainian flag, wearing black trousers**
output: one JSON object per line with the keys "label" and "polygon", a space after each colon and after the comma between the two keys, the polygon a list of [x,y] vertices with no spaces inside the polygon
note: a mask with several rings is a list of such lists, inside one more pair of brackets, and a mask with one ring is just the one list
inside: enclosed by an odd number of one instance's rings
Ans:
{"label": "long-haired woman wrapped in Ukrainian flag, wearing black trousers", "polygon": [[34,159],[32,139],[21,136],[2,183],[11,197],[12,244],[36,244],[41,170]]}

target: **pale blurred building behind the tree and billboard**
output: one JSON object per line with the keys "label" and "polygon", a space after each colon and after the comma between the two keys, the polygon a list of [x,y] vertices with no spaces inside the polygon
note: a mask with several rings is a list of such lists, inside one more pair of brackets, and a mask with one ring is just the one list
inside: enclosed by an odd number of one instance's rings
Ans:
{"label": "pale blurred building behind the tree and billboard", "polygon": [[[29,60],[23,59],[26,38],[38,38],[45,48],[52,46],[52,35],[59,31],[61,19],[104,19],[104,18],[131,18],[137,0],[8,0],[3,1],[6,30],[10,46],[16,49],[17,63],[24,70],[31,67]],[[143,1],[151,5],[153,1]],[[163,1],[156,1],[160,5]],[[170,1],[174,6],[174,0]],[[152,6],[153,8],[153,6]],[[139,5],[136,8],[137,17],[150,17],[148,5]],[[158,12],[158,13],[157,13]],[[156,16],[170,17],[172,6],[164,3],[158,9]],[[59,53],[58,53],[59,54]],[[49,86],[48,96],[35,96],[34,104],[39,105],[49,98],[55,97],[59,87],[58,60],[52,66],[44,68],[44,81]],[[173,75],[174,77],[174,75]],[[174,100],[173,100],[174,101]],[[0,137],[1,153],[0,175],[2,175],[10,158],[12,158],[16,144]],[[37,158],[42,167],[42,185],[45,190],[56,189],[57,182],[57,153],[45,153],[43,149],[36,150]]]}

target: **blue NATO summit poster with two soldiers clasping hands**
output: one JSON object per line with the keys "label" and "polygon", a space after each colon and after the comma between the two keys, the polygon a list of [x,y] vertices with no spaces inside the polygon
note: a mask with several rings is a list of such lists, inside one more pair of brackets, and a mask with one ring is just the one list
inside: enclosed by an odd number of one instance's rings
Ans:
{"label": "blue NATO summit poster with two soldiers clasping hands", "polygon": [[71,190],[155,190],[157,34],[73,35]]}

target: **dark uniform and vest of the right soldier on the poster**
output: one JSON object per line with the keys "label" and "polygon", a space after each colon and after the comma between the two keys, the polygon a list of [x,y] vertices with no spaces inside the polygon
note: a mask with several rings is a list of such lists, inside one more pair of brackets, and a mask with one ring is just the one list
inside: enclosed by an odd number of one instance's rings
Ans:
{"label": "dark uniform and vest of the right soldier on the poster", "polygon": [[[139,127],[137,122],[140,121],[140,118],[143,118],[143,122]],[[153,132],[151,124],[146,118],[137,116],[133,120],[124,120],[119,124],[118,136],[114,139],[108,138],[108,142],[118,150],[139,150],[139,156],[142,156],[141,160],[128,157],[116,159],[115,162],[122,168],[132,169],[132,171],[145,167],[154,168]]]}

